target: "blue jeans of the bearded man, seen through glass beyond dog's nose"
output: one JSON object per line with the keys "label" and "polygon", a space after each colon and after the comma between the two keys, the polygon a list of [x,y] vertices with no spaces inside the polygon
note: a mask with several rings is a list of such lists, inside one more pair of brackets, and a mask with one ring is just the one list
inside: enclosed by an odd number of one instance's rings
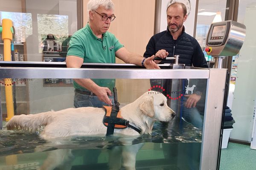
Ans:
{"label": "blue jeans of the bearded man, seen through glass beyond dog's nose", "polygon": [[200,112],[198,111],[198,109],[195,107],[191,107],[191,108],[186,108],[185,107],[185,102],[186,102],[186,99],[183,99],[183,104],[182,104],[182,117],[183,119],[186,120],[186,122],[189,122],[191,123],[192,125],[194,125],[195,127],[199,128],[199,129],[202,129],[203,128],[203,123],[204,123],[204,120],[203,120],[203,116],[201,116]]}

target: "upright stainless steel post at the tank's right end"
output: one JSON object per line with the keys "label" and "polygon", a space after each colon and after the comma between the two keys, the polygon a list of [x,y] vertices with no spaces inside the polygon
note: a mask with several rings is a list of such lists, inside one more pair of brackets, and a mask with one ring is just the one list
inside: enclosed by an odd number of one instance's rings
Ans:
{"label": "upright stainless steel post at the tank's right end", "polygon": [[217,170],[227,69],[209,69],[200,170]]}

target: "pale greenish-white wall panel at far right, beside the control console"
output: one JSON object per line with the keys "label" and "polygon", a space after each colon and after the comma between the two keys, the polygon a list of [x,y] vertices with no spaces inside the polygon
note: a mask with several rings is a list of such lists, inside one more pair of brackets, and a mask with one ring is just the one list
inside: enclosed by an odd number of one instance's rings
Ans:
{"label": "pale greenish-white wall panel at far right, beside the control console", "polygon": [[251,16],[256,15],[255,5],[247,7],[244,17],[246,26],[246,38],[239,54],[237,68],[236,88],[232,104],[233,118],[236,123],[233,125],[233,131],[230,138],[244,141],[251,141],[253,128],[253,110],[256,101],[256,41],[255,27],[256,23],[251,22]]}

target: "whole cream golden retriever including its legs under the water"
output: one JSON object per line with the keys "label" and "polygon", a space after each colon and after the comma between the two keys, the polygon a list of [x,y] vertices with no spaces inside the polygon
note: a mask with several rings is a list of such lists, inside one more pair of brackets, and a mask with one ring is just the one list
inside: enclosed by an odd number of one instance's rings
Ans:
{"label": "whole cream golden retriever including its legs under the water", "polygon": [[[144,93],[134,102],[120,108],[120,111],[122,118],[140,129],[141,134],[151,134],[154,122],[169,122],[175,117],[175,112],[167,105],[166,96],[157,91]],[[102,123],[104,115],[103,108],[68,108],[61,111],[14,116],[6,124],[6,127],[8,130],[15,128],[32,130],[44,126],[40,136],[45,140],[72,136],[105,136],[107,127]],[[127,127],[115,129],[113,135],[138,136],[140,134]],[[143,144],[128,146],[132,144],[131,138],[122,143],[127,146],[115,147],[110,150],[110,155],[114,158],[114,160],[109,160],[110,169],[119,169],[122,158],[122,166],[125,169],[135,170],[136,154]],[[61,156],[58,157],[55,154]],[[52,159],[52,156],[59,159]],[[72,158],[70,149],[52,151],[41,169],[53,170],[55,167],[63,167],[63,162],[70,162],[70,158]],[[120,161],[117,161],[118,159]],[[66,168],[70,169],[69,166]]]}

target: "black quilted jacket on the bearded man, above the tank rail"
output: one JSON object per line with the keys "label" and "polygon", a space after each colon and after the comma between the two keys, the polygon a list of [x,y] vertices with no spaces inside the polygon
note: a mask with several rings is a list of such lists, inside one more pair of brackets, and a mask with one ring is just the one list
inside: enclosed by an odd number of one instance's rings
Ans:
{"label": "black quilted jacket on the bearded man, above the tank rail", "polygon": [[[160,32],[155,34],[148,42],[144,57],[151,57],[156,54],[158,50],[165,49],[168,51],[168,57],[180,55],[179,63],[186,66],[194,66],[201,68],[208,68],[204,53],[194,37],[186,34],[185,27],[183,32],[177,40],[173,40],[170,31]],[[163,63],[173,63],[174,60],[162,61]]]}

